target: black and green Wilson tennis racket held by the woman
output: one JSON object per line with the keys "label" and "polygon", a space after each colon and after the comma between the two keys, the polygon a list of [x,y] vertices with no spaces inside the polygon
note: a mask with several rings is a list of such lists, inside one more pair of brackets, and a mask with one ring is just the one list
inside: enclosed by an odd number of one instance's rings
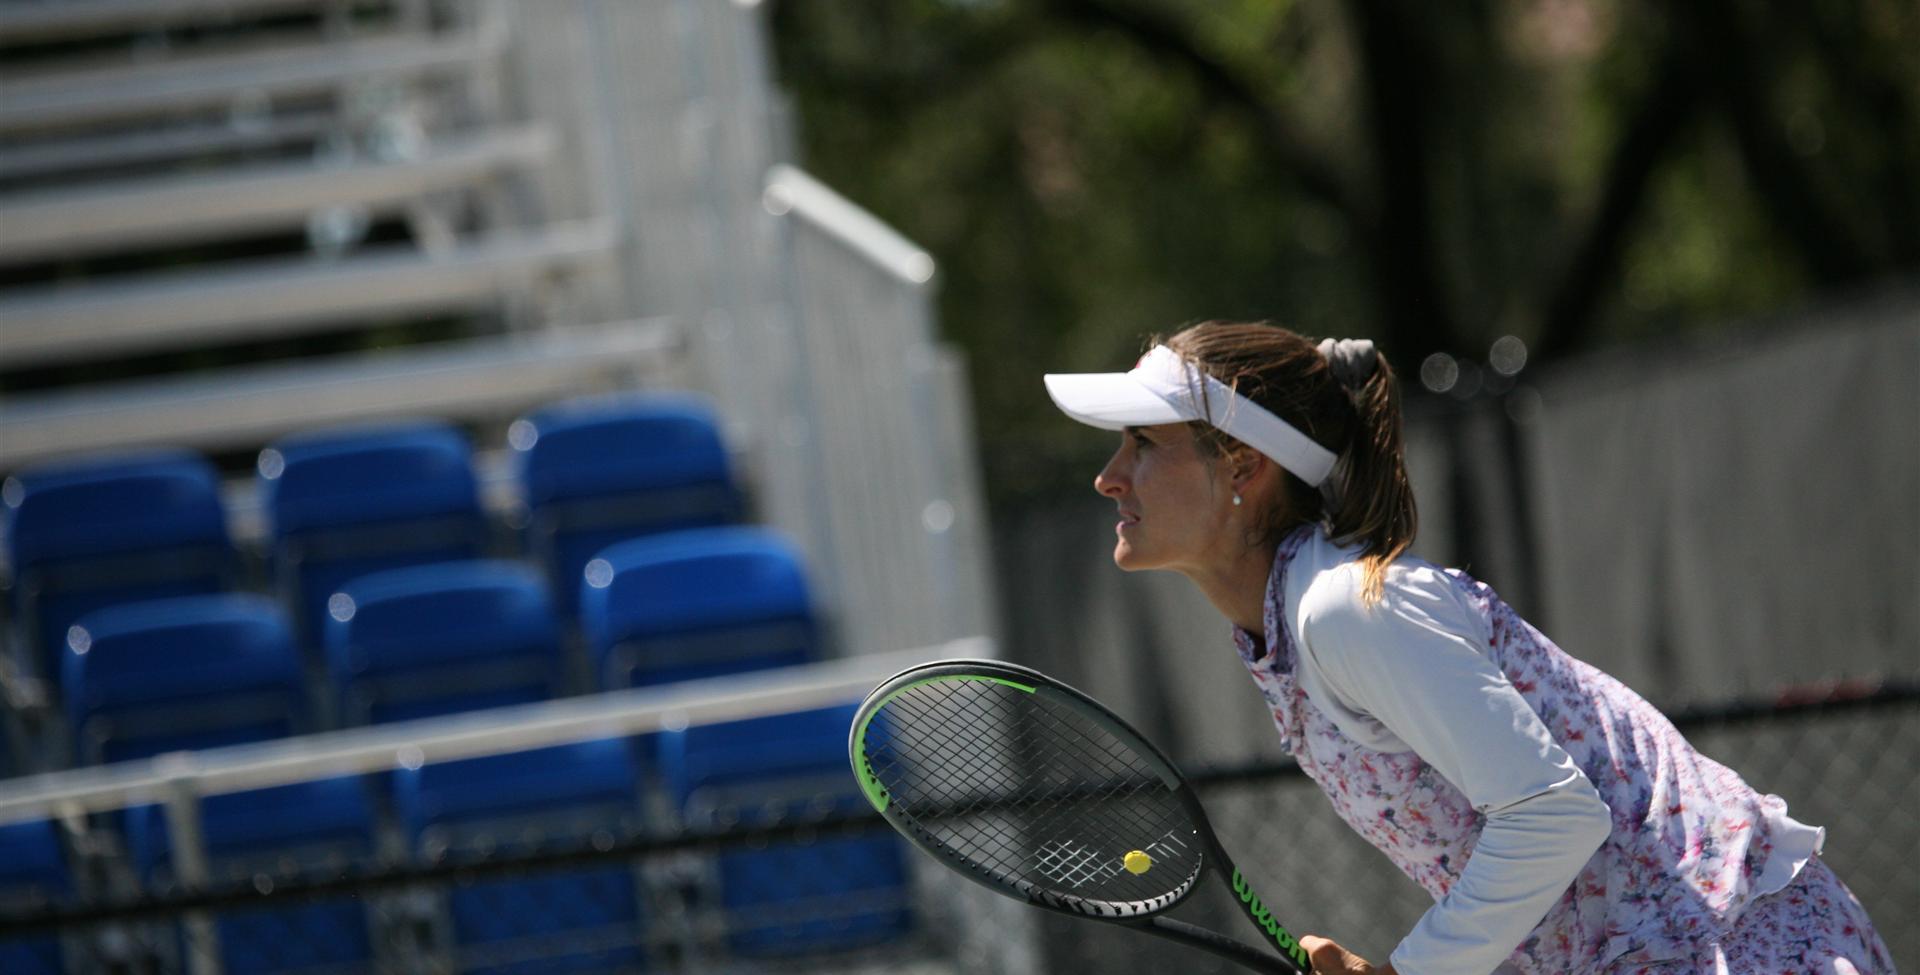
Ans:
{"label": "black and green Wilson tennis racket held by the woman", "polygon": [[[849,758],[895,829],[1000,894],[1256,971],[1313,969],[1235,869],[1173,762],[1044,674],[996,660],[902,670],[854,712]],[[1208,871],[1229,885],[1271,950],[1164,916]]]}

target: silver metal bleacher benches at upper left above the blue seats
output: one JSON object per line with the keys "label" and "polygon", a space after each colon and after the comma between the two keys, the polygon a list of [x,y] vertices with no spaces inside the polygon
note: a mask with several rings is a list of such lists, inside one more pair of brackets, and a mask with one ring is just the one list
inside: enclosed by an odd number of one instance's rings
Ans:
{"label": "silver metal bleacher benches at upper left above the blue seats", "polygon": [[[482,422],[676,353],[664,322],[547,315],[618,232],[540,211],[557,142],[503,107],[497,4],[12,2],[0,50],[0,468]],[[388,338],[449,319],[447,342]],[[284,347],[342,334],[405,347]],[[211,369],[125,367],[169,353]]]}

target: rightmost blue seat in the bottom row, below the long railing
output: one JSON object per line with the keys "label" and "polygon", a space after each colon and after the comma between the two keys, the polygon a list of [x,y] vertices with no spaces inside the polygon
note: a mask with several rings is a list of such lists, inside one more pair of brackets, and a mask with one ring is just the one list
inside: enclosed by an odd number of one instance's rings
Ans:
{"label": "rightmost blue seat in the bottom row, below the long railing", "polygon": [[[695,829],[860,812],[866,806],[847,772],[852,712],[849,704],[662,733],[660,777]],[[912,929],[906,860],[891,831],[774,843],[714,860],[735,954],[851,950]]]}

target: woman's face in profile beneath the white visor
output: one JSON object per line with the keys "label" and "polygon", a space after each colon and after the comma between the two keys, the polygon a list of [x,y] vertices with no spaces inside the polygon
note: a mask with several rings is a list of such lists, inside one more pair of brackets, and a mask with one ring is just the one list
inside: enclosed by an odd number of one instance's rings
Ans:
{"label": "woman's face in profile beneath the white visor", "polygon": [[1233,484],[1183,422],[1129,426],[1092,488],[1119,507],[1114,564],[1125,570],[1198,568],[1235,551],[1227,526]]}

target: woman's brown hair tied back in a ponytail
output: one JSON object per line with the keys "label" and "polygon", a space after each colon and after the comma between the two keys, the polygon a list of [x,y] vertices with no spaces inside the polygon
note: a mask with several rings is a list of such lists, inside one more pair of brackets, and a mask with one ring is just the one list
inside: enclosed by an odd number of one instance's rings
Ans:
{"label": "woman's brown hair tied back in a ponytail", "polygon": [[[1400,384],[1386,355],[1373,353],[1373,370],[1350,376],[1348,386],[1313,340],[1267,322],[1200,322],[1164,344],[1338,457],[1329,480],[1332,509],[1319,488],[1286,472],[1284,499],[1269,509],[1260,541],[1273,545],[1298,524],[1327,520],[1336,543],[1361,547],[1361,597],[1379,601],[1386,566],[1419,530]],[[1212,455],[1235,443],[1212,424],[1196,422],[1196,432]]]}

